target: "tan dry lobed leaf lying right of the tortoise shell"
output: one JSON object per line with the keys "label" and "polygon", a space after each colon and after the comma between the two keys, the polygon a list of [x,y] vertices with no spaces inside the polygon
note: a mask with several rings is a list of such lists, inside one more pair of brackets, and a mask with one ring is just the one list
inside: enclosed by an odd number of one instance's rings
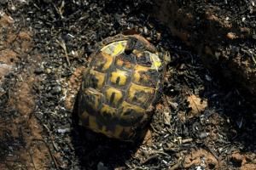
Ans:
{"label": "tan dry lobed leaf lying right of the tortoise shell", "polygon": [[207,100],[201,99],[200,97],[192,94],[188,97],[189,107],[192,109],[190,117],[198,116],[201,114],[201,111],[205,111],[207,107]]}

